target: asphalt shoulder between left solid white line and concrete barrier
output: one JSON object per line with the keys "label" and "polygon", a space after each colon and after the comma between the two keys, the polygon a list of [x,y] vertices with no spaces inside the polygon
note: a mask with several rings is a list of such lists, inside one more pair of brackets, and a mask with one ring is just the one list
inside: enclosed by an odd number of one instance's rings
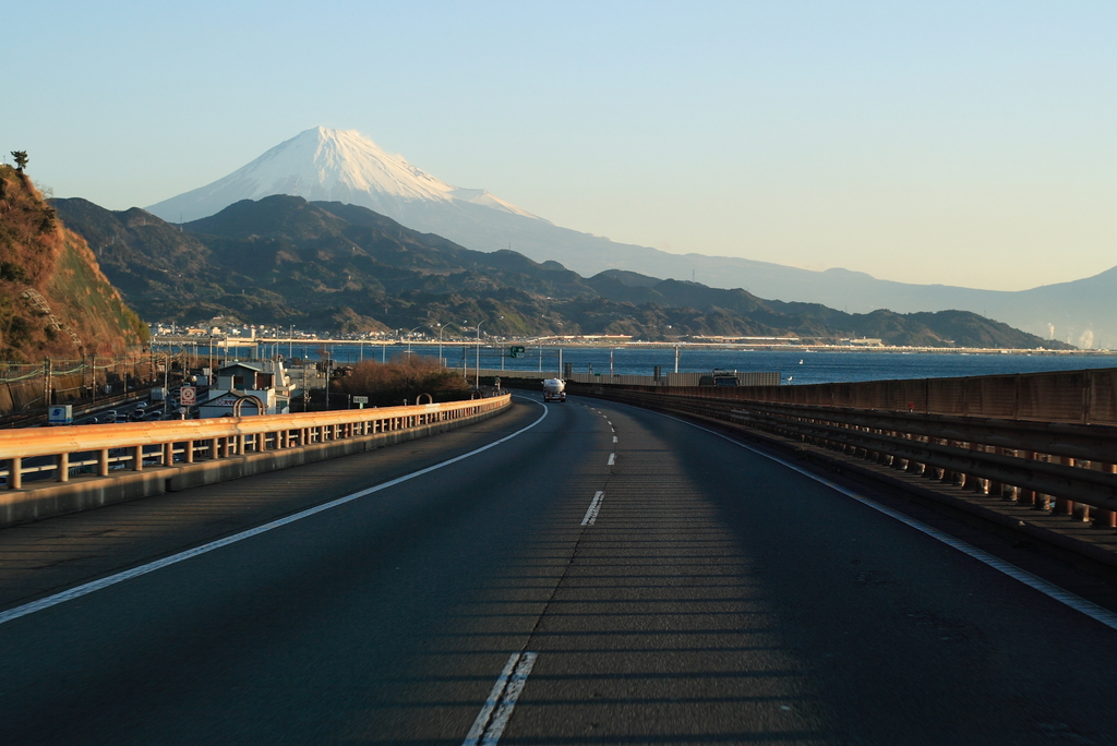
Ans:
{"label": "asphalt shoulder between left solid white line and concrete barrier", "polygon": [[527,427],[540,407],[435,438],[0,530],[0,609],[228,536],[457,458]]}

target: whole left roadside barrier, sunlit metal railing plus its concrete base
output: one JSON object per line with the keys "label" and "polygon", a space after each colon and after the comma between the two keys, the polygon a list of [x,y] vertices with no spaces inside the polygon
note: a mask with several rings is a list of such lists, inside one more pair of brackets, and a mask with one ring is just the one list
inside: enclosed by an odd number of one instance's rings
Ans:
{"label": "whole left roadside barrier, sunlit metal railing plus its concrete base", "polygon": [[441,404],[0,432],[0,527],[424,438],[506,411]]}

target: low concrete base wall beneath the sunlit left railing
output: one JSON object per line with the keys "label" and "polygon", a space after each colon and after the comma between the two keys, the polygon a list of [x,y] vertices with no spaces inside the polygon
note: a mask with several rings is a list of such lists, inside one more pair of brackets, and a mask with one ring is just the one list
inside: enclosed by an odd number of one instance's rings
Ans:
{"label": "low concrete base wall beneath the sunlit left railing", "polygon": [[0,491],[0,528],[371,451],[474,424],[507,411],[507,408],[496,409],[457,420],[312,443],[302,448],[267,450],[169,467],[145,467],[143,471],[121,470],[107,477],[77,476],[66,482],[41,482],[41,486],[32,482],[25,489]]}

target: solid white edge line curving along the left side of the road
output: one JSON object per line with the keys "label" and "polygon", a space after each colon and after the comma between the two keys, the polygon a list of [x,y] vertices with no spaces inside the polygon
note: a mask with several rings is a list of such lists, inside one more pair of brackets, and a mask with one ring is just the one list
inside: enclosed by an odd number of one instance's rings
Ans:
{"label": "solid white edge line curving along the left side of the road", "polygon": [[[533,403],[538,403],[534,402],[533,400],[528,401],[532,401]],[[543,405],[540,404],[540,407]],[[411,474],[403,475],[402,477],[397,477],[395,479],[391,479],[383,484],[375,485],[374,487],[367,487],[360,491],[345,495],[344,497],[338,497],[337,499],[331,500],[328,503],[323,503],[322,505],[317,505],[313,508],[307,508],[306,510],[302,510],[299,513],[295,513],[284,518],[279,518],[278,520],[273,520],[271,523],[257,526],[256,528],[249,528],[247,530],[240,532],[239,534],[233,534],[232,536],[226,536],[225,538],[217,539],[216,542],[202,544],[201,546],[195,546],[192,549],[187,549],[184,552],[179,552],[178,554],[172,554],[169,557],[163,557],[162,560],[149,562],[145,565],[140,565],[139,567],[132,567],[131,570],[125,570],[123,572],[116,573],[115,575],[108,575],[107,577],[102,577],[99,580],[90,581],[82,585],[76,585],[66,591],[60,591],[59,593],[55,593],[54,595],[48,595],[45,599],[39,599],[38,601],[31,601],[30,603],[25,603],[22,606],[16,606],[15,609],[2,611],[0,612],[0,624],[4,624],[12,620],[19,619],[20,616],[27,616],[28,614],[34,614],[35,612],[42,611],[44,609],[50,609],[51,606],[57,606],[58,604],[66,603],[67,601],[74,601],[75,599],[80,599],[84,595],[88,595],[96,591],[101,591],[111,585],[123,583],[124,581],[132,580],[133,577],[139,577],[140,575],[146,575],[147,573],[154,572],[156,570],[162,570],[163,567],[168,567],[170,565],[178,564],[180,562],[183,562],[184,560],[197,557],[208,552],[212,552],[213,549],[220,549],[222,546],[229,546],[230,544],[242,542],[246,538],[251,538],[252,536],[257,536],[265,532],[269,532],[273,528],[279,528],[280,526],[293,524],[296,520],[302,520],[303,518],[309,518],[311,516],[316,515],[318,513],[323,513],[324,510],[336,508],[340,505],[352,503],[353,500],[366,497],[369,495],[372,495],[373,492],[379,492],[381,490],[388,489],[389,487],[394,487],[405,481],[410,481],[416,477],[421,477],[437,469],[441,469],[442,467],[448,467],[451,463],[457,463],[458,461],[462,461],[471,456],[477,456],[478,453],[483,453],[484,451],[487,451],[490,448],[495,448],[500,443],[512,440],[516,436],[527,432],[528,430],[537,425],[540,422],[542,422],[544,418],[546,418],[546,415],[547,415],[547,409],[544,407],[543,414],[540,415],[540,419],[537,419],[535,422],[532,422],[526,428],[517,430],[512,434],[505,436],[500,440],[494,440],[488,446],[481,446],[480,448],[471,450],[468,453],[456,456],[452,459],[442,461],[441,463],[436,463],[433,466],[427,467],[426,469],[420,469],[419,471],[412,471]]]}

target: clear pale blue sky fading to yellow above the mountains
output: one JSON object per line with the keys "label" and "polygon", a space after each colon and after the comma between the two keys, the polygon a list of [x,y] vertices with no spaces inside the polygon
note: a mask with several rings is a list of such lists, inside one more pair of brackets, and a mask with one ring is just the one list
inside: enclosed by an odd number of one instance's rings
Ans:
{"label": "clear pale blue sky fading to yellow above the mountains", "polygon": [[680,254],[994,289],[1117,265],[1111,0],[321,4],[9,3],[0,151],[124,209],[321,124]]}

